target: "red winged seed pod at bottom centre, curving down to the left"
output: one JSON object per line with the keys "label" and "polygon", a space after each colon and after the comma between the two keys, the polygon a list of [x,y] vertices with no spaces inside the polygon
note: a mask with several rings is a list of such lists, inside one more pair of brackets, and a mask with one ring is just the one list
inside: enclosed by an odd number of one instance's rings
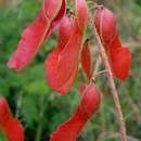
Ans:
{"label": "red winged seed pod at bottom centre, curving down to the left", "polygon": [[101,95],[95,86],[89,84],[81,89],[81,103],[70,119],[61,125],[51,136],[50,141],[75,141],[87,121],[98,111]]}

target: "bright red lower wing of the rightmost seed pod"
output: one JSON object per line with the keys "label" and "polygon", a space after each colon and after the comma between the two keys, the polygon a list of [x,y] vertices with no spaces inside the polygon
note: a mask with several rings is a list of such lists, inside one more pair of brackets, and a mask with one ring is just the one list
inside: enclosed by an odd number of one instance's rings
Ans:
{"label": "bright red lower wing of the rightmost seed pod", "polygon": [[131,55],[127,47],[121,47],[118,36],[115,36],[110,50],[110,63],[115,76],[121,80],[128,77]]}

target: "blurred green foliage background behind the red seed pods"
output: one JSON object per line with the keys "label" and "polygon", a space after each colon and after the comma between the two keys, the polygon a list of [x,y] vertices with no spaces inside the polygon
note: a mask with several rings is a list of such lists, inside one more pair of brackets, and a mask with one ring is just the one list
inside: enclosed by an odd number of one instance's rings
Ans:
{"label": "blurred green foliage background behind the red seed pods", "polygon": [[[125,82],[116,80],[127,133],[141,140],[141,0],[99,0],[113,10],[125,46],[131,49],[130,76]],[[89,2],[88,2],[89,3]],[[48,141],[51,132],[67,120],[79,102],[78,84],[81,72],[67,97],[51,90],[44,77],[44,60],[55,44],[53,36],[21,73],[7,67],[16,49],[21,33],[39,10],[41,0],[0,0],[0,94],[5,97],[12,113],[25,128],[25,141]],[[90,4],[90,7],[92,7]],[[101,108],[87,124],[78,141],[119,141],[119,124],[105,75],[97,79],[103,92]],[[0,141],[7,141],[0,133]]]}

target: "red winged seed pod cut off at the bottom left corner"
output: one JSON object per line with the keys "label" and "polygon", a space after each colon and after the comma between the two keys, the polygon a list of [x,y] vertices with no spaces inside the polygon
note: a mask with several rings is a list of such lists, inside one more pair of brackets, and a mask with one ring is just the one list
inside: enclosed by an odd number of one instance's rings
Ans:
{"label": "red winged seed pod cut off at the bottom left corner", "polygon": [[0,98],[0,129],[9,141],[24,141],[24,129],[21,123],[13,118],[7,101]]}

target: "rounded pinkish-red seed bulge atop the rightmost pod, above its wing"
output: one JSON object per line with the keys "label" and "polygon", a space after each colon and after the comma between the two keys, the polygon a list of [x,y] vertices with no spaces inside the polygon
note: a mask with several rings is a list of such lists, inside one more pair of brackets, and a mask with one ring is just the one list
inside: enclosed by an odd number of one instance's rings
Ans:
{"label": "rounded pinkish-red seed bulge atop the rightmost pod, above its wing", "polygon": [[102,43],[104,43],[105,49],[108,50],[107,46],[117,33],[116,18],[110,10],[105,8],[98,8],[95,11],[94,22]]}

